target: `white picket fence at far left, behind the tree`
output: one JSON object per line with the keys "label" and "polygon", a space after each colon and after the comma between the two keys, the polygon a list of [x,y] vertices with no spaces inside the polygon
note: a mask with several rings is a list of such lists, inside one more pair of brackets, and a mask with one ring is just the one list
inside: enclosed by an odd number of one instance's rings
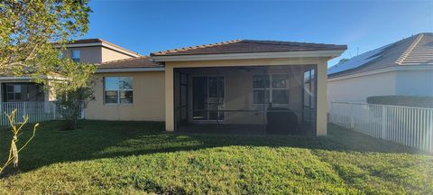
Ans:
{"label": "white picket fence at far left, behind the tree", "polygon": [[[23,116],[29,117],[29,123],[37,123],[61,119],[55,101],[32,102],[2,102],[0,103],[0,126],[9,125],[7,115],[16,109],[15,123],[23,123]],[[81,110],[81,118],[84,118],[84,109]]]}

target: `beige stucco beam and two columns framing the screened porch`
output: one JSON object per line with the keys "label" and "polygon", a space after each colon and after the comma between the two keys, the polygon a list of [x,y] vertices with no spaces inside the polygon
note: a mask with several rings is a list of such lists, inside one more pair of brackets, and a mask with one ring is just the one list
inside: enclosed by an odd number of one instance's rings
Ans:
{"label": "beige stucco beam and two columns framing the screened porch", "polygon": [[165,118],[166,130],[174,129],[173,69],[198,67],[230,66],[269,66],[269,65],[318,65],[318,107],[317,135],[327,135],[327,59],[326,58],[287,58],[256,60],[198,60],[168,61],[165,64]]}

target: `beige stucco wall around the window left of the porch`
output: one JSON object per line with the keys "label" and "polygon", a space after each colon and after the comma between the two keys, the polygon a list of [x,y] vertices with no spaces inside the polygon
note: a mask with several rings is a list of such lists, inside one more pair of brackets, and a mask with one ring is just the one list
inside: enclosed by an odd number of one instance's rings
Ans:
{"label": "beige stucco wall around the window left of the porch", "polygon": [[[105,76],[133,77],[133,104],[104,104],[103,78]],[[126,120],[126,121],[164,121],[164,73],[131,72],[104,73],[95,76],[95,101],[88,103],[87,119]]]}

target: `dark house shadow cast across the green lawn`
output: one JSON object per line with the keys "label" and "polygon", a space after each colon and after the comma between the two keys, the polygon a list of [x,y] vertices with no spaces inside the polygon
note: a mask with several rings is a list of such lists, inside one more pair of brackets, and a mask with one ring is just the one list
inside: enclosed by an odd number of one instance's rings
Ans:
{"label": "dark house shadow cast across the green lawn", "polygon": [[[416,150],[328,126],[327,137],[285,135],[178,135],[164,131],[158,122],[81,121],[81,128],[60,131],[60,121],[41,124],[32,143],[20,153],[20,169],[30,171],[51,163],[76,162],[146,153],[167,153],[244,145],[297,147],[344,152],[419,153]],[[25,130],[21,143],[31,131]],[[10,133],[0,131],[0,142],[9,143]],[[1,154],[8,144],[0,145]]]}

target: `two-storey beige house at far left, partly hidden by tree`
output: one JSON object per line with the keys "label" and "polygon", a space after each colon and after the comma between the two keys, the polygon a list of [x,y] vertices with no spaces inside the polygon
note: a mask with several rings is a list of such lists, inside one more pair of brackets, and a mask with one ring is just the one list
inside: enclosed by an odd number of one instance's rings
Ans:
{"label": "two-storey beige house at far left, partly hidden by tree", "polygon": [[[62,56],[76,61],[97,64],[109,60],[140,57],[134,51],[128,51],[101,39],[85,39],[70,42],[67,44]],[[42,90],[41,85],[32,82],[32,78],[0,77],[0,102],[49,100],[53,100],[53,98]]]}

